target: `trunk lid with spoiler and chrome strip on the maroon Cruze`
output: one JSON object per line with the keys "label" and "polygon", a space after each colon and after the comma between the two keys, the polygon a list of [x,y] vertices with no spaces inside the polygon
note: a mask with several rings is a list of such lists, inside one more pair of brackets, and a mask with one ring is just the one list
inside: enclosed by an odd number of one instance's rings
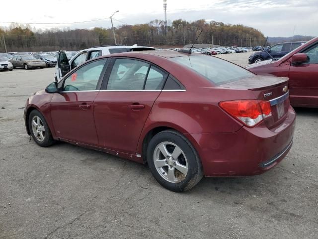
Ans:
{"label": "trunk lid with spoiler and chrome strip on the maroon Cruze", "polygon": [[253,93],[258,101],[270,103],[272,117],[265,119],[268,128],[278,125],[288,112],[290,105],[287,77],[254,76],[224,85],[222,88],[247,90]]}

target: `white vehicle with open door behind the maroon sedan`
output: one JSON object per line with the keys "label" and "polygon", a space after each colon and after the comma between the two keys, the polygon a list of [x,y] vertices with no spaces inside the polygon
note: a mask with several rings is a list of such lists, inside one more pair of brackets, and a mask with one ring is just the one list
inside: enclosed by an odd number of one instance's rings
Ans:
{"label": "white vehicle with open door behind the maroon sedan", "polygon": [[128,52],[128,51],[146,51],[155,50],[154,47],[148,46],[124,46],[124,45],[108,45],[108,46],[96,46],[79,51],[73,56],[70,61],[67,58],[65,51],[60,51],[58,54],[58,64],[55,67],[54,78],[59,81],[67,73],[79,66],[85,61],[96,58],[98,56],[109,55],[113,53]]}

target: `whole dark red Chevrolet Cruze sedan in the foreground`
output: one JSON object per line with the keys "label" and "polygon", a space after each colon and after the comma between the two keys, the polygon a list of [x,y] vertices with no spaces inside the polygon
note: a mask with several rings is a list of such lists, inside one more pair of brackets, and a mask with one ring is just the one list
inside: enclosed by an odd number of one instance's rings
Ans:
{"label": "whole dark red Chevrolet Cruze sedan in the foreground", "polygon": [[61,140],[148,163],[162,186],[185,191],[203,175],[278,164],[293,142],[288,96],[288,78],[216,57],[129,52],[87,61],[35,93],[24,118],[40,146]]}

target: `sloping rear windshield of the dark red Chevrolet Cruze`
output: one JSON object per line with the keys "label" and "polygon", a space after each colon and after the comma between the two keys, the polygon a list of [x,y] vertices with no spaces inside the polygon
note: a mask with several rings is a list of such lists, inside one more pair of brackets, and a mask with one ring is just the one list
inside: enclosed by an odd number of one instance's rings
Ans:
{"label": "sloping rear windshield of the dark red Chevrolet Cruze", "polygon": [[244,68],[214,56],[180,56],[170,60],[191,68],[217,86],[254,76]]}

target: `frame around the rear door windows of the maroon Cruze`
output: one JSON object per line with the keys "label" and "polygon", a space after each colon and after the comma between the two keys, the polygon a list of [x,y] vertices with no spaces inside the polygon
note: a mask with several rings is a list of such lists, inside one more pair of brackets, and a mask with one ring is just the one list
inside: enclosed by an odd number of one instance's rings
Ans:
{"label": "frame around the rear door windows of the maroon Cruze", "polygon": [[[147,70],[147,75],[146,75],[146,78],[145,78],[145,82],[144,82],[144,87],[143,89],[141,90],[107,90],[107,85],[108,85],[108,81],[109,81],[109,77],[110,77],[110,74],[111,74],[111,71],[113,69],[113,66],[115,64],[115,61],[117,59],[128,59],[128,60],[136,60],[136,61],[141,61],[141,62],[144,62],[144,63],[147,63],[149,64],[149,67],[148,67],[148,70]],[[154,66],[154,67],[157,67],[160,71],[164,72],[165,73],[165,79],[164,79],[164,83],[162,84],[162,87],[160,90],[145,90],[145,85],[146,85],[146,82],[147,82],[147,78],[148,78],[148,73],[150,71],[150,68],[151,66]],[[134,57],[112,57],[111,60],[110,60],[110,63],[108,64],[108,68],[106,70],[106,73],[104,75],[104,78],[103,78],[103,81],[101,83],[101,88],[100,88],[100,91],[163,91],[163,88],[164,88],[164,85],[165,85],[165,82],[167,81],[168,79],[168,76],[169,76],[169,73],[167,71],[165,71],[164,69],[162,69],[161,67],[159,67],[158,65],[152,63],[152,62],[149,62],[149,61],[146,61],[146,60],[143,60],[143,59],[139,59],[139,58],[134,58]],[[164,90],[164,91],[174,91],[174,90]],[[182,90],[184,91],[184,90]]]}

